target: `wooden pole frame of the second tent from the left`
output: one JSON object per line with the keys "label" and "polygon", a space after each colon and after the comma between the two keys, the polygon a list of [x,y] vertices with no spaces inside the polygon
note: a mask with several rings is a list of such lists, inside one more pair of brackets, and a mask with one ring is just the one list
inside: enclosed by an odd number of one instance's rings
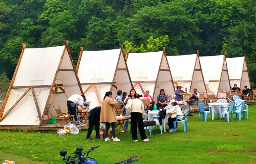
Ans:
{"label": "wooden pole frame of the second tent from the left", "polygon": [[[121,50],[120,50],[120,52],[119,52],[118,60],[117,60],[117,63],[116,63],[116,69],[115,69],[115,73],[114,73],[114,77],[113,77],[112,82],[81,83],[81,86],[89,85],[89,86],[85,89],[85,91],[83,92],[84,94],[85,94],[86,92],[88,92],[91,87],[93,87],[94,92],[95,92],[95,94],[96,94],[96,96],[97,96],[97,99],[98,99],[98,102],[99,102],[100,106],[101,106],[101,100],[100,100],[100,95],[99,95],[99,92],[98,92],[98,90],[97,90],[97,88],[96,88],[96,85],[111,84],[110,91],[112,91],[113,87],[117,89],[117,86],[115,85],[115,84],[116,84],[116,73],[117,73],[117,71],[127,71],[128,76],[129,76],[129,79],[130,79],[131,87],[133,88],[131,76],[130,76],[130,73],[129,73],[129,70],[128,70],[128,67],[127,67],[127,63],[126,63],[126,58],[125,58],[125,56],[124,56],[123,44],[120,44],[120,48],[121,48]],[[120,62],[121,54],[123,54],[124,63],[125,63],[125,67],[126,67],[126,68],[117,68],[117,67],[118,67],[118,64],[119,64],[119,62]],[[82,59],[82,55],[83,55],[83,47],[80,47],[79,58],[78,58],[77,65],[76,65],[76,72],[78,72],[79,65],[80,65],[80,62],[81,62],[81,59]]]}

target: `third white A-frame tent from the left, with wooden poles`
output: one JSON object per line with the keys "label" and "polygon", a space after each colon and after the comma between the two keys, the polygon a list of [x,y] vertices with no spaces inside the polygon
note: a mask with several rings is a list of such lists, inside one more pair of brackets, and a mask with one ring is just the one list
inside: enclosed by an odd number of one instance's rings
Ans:
{"label": "third white A-frame tent from the left, with wooden poles", "polygon": [[127,65],[136,93],[149,94],[156,101],[160,89],[165,94],[175,94],[172,75],[165,55],[165,48],[159,52],[128,53]]}

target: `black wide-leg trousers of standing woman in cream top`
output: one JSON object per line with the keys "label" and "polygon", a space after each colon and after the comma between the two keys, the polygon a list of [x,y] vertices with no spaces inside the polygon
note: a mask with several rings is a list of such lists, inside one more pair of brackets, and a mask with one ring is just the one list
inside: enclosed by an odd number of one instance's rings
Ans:
{"label": "black wide-leg trousers of standing woman in cream top", "polygon": [[139,112],[132,112],[131,113],[131,129],[132,129],[132,139],[138,139],[137,136],[137,122],[140,130],[140,138],[146,139],[146,133],[143,127],[143,117],[142,114]]}

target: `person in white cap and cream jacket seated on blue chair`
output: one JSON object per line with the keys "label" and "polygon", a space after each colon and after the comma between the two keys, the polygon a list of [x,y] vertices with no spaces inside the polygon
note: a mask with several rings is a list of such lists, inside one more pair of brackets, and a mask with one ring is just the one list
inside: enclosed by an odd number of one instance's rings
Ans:
{"label": "person in white cap and cream jacket seated on blue chair", "polygon": [[[172,108],[166,108],[166,113],[170,113],[172,114],[171,117],[168,118],[168,126],[170,128],[169,132],[173,132],[173,128],[174,128],[174,121],[176,120],[176,116],[177,115],[182,115],[182,111],[179,107],[179,105],[177,104],[177,102],[175,102],[175,100],[171,100],[170,104],[172,105]],[[181,121],[183,118],[183,116],[178,116],[178,120]],[[177,127],[177,125],[176,125]]]}

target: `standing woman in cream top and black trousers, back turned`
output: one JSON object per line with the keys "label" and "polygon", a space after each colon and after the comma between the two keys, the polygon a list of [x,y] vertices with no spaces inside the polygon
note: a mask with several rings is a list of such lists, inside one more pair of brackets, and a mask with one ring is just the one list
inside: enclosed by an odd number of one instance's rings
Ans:
{"label": "standing woman in cream top and black trousers, back turned", "polygon": [[144,118],[144,104],[140,101],[140,97],[142,95],[136,93],[134,95],[134,99],[129,103],[128,110],[131,113],[131,129],[132,129],[132,140],[134,142],[138,142],[137,136],[137,122],[140,129],[140,138],[143,139],[144,142],[149,141],[146,136],[144,125],[143,125],[143,118]]}

